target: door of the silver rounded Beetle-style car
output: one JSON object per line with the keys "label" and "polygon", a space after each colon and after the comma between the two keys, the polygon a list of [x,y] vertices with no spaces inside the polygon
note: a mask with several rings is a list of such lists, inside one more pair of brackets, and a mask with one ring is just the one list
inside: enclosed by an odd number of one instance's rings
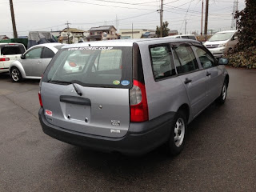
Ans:
{"label": "door of the silver rounded Beetle-style car", "polygon": [[21,59],[26,76],[41,77],[42,74],[42,46],[28,50],[25,57]]}

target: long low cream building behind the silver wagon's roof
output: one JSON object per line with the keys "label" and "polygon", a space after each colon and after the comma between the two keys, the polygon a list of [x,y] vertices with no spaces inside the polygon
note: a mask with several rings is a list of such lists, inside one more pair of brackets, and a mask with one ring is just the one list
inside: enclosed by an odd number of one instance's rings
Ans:
{"label": "long low cream building behind the silver wagon's roof", "polygon": [[121,36],[120,38],[142,38],[146,32],[155,32],[155,30],[120,29],[118,34]]}

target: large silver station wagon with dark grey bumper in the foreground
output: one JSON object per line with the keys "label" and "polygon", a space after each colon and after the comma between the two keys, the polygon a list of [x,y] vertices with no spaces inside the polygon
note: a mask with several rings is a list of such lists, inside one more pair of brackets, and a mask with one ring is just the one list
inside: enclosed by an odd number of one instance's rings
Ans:
{"label": "large silver station wagon with dark grey bumper in the foreground", "polygon": [[[77,58],[78,70],[66,70]],[[71,59],[70,59],[71,58]],[[96,150],[179,154],[186,128],[226,100],[227,59],[189,39],[130,39],[63,46],[38,94],[44,133]]]}

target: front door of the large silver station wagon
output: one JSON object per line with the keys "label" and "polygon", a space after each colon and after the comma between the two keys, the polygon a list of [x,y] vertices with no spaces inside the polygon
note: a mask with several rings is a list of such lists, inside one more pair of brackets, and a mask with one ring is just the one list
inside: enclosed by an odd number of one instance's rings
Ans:
{"label": "front door of the large silver station wagon", "polygon": [[207,77],[207,102],[210,104],[218,98],[222,87],[222,72],[217,67],[217,61],[203,46],[193,46],[198,62],[201,63],[204,74]]}

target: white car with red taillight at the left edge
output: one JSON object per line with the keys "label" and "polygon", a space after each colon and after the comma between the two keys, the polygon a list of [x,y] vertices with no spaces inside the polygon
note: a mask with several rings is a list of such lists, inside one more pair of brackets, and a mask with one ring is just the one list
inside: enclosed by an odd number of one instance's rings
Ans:
{"label": "white car with red taillight at the left edge", "polygon": [[0,73],[9,72],[10,63],[20,59],[25,51],[22,43],[0,43]]}

